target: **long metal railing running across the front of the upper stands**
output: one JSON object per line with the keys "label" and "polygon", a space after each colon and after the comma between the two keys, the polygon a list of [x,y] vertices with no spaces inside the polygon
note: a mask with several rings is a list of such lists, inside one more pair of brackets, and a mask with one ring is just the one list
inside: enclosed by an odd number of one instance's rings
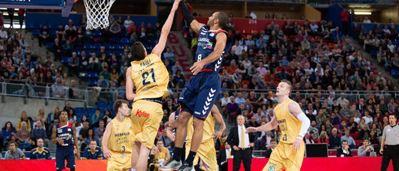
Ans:
{"label": "long metal railing running across the front of the upper stands", "polygon": [[[16,82],[15,80],[3,80],[0,82],[0,95],[17,96],[27,98],[43,98],[46,100],[68,100],[68,101],[82,101],[85,106],[93,106],[97,101],[115,101],[117,99],[125,99],[126,91],[123,88],[107,88],[101,87],[81,87],[70,86],[62,84],[47,84],[39,82]],[[180,93],[184,89],[169,89],[169,95],[173,93]],[[267,97],[269,91],[275,92],[275,89],[227,89],[230,95],[237,96],[237,93],[243,92],[243,97],[249,97],[249,92],[254,91],[255,97],[259,98],[262,93]],[[319,90],[293,90],[290,94],[291,98],[295,97],[296,91],[299,91],[301,98],[308,98],[310,96],[317,97]],[[322,97],[327,98],[330,93],[334,98],[340,97],[340,93],[345,94],[345,98],[350,102],[359,101],[359,99],[368,99],[369,94],[373,93],[375,98],[382,96],[385,101],[389,101],[391,97],[399,98],[399,91],[327,91],[320,90]]]}

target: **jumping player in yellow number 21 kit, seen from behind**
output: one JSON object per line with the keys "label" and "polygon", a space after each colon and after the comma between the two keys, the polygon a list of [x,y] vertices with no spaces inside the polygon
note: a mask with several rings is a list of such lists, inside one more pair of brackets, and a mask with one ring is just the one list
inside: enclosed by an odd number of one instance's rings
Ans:
{"label": "jumping player in yellow number 21 kit, seen from behind", "polygon": [[[130,118],[135,136],[131,162],[132,168],[136,171],[147,170],[150,148],[154,144],[164,114],[162,99],[168,95],[169,74],[160,57],[165,48],[179,2],[180,0],[174,1],[168,19],[162,27],[158,44],[151,54],[147,55],[141,42],[134,43],[130,49],[133,62],[126,71],[126,98],[133,100]],[[136,87],[136,94],[133,93],[133,86]]]}

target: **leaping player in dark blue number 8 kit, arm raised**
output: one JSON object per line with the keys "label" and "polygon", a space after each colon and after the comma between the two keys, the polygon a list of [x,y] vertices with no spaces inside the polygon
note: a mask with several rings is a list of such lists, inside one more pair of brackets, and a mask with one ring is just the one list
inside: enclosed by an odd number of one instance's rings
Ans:
{"label": "leaping player in dark blue number 8 kit, arm raised", "polygon": [[[165,166],[160,167],[161,171],[176,170],[190,171],[193,168],[193,161],[201,144],[203,135],[203,122],[219,96],[221,80],[218,74],[223,61],[223,55],[228,53],[231,46],[230,35],[223,30],[227,24],[227,16],[223,12],[215,12],[209,17],[207,25],[194,20],[184,1],[179,4],[184,19],[190,23],[194,32],[198,33],[198,47],[195,62],[190,68],[193,77],[185,85],[179,98],[182,111],[176,120],[176,140],[173,160]],[[193,116],[194,133],[190,152],[186,161],[180,161],[184,139],[187,135],[187,123]]]}

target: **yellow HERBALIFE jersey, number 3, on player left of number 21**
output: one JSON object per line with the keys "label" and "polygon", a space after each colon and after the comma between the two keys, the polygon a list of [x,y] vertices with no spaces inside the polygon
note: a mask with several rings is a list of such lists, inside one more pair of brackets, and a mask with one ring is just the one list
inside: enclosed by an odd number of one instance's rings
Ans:
{"label": "yellow HERBALIFE jersey, number 3, on player left of number 21", "polygon": [[110,160],[124,164],[129,162],[133,148],[133,127],[130,118],[125,117],[123,122],[115,117],[111,120],[112,130],[108,139],[108,149],[112,155]]}

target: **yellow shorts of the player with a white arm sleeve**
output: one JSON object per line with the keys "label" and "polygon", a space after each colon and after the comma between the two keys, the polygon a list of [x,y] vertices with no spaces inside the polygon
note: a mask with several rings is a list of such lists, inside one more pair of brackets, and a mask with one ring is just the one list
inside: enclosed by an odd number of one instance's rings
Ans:
{"label": "yellow shorts of the player with a white arm sleeve", "polygon": [[305,145],[301,143],[298,150],[292,149],[292,144],[279,143],[273,149],[270,159],[262,171],[299,171],[302,166]]}

